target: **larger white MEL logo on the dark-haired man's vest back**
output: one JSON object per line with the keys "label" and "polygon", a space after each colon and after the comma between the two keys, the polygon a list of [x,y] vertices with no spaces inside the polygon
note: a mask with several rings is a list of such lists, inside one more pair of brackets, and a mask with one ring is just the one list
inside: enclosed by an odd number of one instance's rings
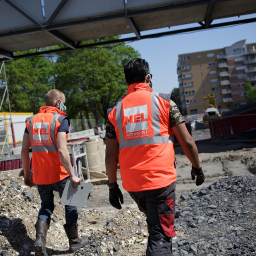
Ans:
{"label": "larger white MEL logo on the dark-haired man's vest back", "polygon": [[124,109],[125,140],[149,136],[148,105]]}

